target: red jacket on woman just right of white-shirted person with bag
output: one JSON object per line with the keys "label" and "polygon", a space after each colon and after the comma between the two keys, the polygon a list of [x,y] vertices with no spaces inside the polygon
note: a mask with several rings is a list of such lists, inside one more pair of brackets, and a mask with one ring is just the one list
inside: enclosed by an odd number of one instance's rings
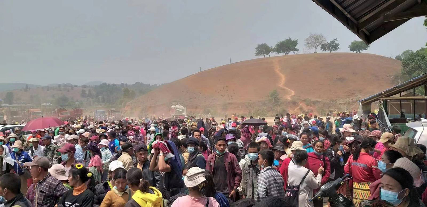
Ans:
{"label": "red jacket on woman just right of white-shirted person with bag", "polygon": [[[323,159],[325,159],[325,164],[323,164]],[[305,167],[307,169],[310,169],[314,176],[317,176],[319,173],[319,167],[322,166],[325,168],[325,173],[322,176],[322,185],[329,182],[329,176],[330,176],[330,162],[329,158],[325,155],[316,155],[314,152],[308,153],[308,159],[307,164]],[[315,193],[313,191],[313,193]]]}

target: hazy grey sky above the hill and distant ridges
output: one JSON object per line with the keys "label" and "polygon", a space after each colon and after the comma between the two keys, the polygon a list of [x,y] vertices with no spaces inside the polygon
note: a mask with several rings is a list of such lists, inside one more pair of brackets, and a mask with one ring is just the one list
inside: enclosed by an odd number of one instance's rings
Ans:
{"label": "hazy grey sky above the hill and distant ridges", "polygon": [[[371,44],[384,56],[427,41],[424,17]],[[311,0],[0,1],[1,83],[167,83],[257,58],[258,43],[323,33],[360,40]]]}

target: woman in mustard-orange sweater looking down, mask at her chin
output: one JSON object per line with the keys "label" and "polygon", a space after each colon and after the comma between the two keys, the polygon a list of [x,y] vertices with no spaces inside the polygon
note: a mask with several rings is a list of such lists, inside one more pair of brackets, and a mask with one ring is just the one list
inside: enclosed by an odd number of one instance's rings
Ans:
{"label": "woman in mustard-orange sweater looking down, mask at her chin", "polygon": [[125,169],[117,170],[114,175],[114,184],[116,185],[107,192],[100,207],[125,206],[126,203],[131,200],[134,191],[128,186],[126,173],[127,171]]}

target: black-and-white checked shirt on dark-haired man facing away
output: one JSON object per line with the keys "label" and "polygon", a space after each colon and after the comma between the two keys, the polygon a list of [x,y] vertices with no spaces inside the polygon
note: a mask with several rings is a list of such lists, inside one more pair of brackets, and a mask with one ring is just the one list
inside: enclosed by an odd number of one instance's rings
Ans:
{"label": "black-and-white checked shirt on dark-haired man facing away", "polygon": [[283,178],[280,175],[279,171],[275,170],[273,167],[268,166],[261,170],[258,173],[257,178],[258,183],[258,199],[261,201],[264,198],[272,196],[281,196],[285,195],[283,189]]}

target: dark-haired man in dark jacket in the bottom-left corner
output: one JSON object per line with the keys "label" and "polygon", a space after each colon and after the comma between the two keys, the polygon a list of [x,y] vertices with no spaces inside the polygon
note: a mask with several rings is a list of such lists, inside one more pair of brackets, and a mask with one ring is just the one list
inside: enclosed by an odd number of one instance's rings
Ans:
{"label": "dark-haired man in dark jacket in the bottom-left corner", "polygon": [[6,173],[0,177],[0,203],[4,203],[6,207],[20,206],[31,207],[31,202],[24,198],[20,192],[19,176],[15,173]]}

